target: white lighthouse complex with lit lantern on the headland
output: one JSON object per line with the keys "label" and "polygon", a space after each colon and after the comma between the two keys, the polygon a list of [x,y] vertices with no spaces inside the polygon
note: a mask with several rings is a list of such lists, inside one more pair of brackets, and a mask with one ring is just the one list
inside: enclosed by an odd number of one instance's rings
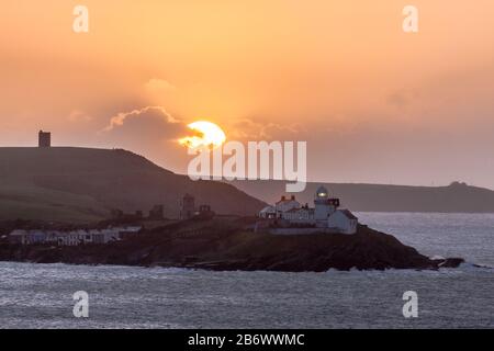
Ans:
{"label": "white lighthouse complex with lit lantern on the headland", "polygon": [[[267,206],[259,212],[262,219],[274,219],[279,222],[283,231],[291,230],[287,227],[314,228],[312,231],[330,231],[343,234],[356,234],[358,218],[348,210],[338,210],[339,199],[329,197],[326,188],[319,186],[314,196],[314,208],[307,205],[301,206],[295,196],[287,199],[282,196],[276,206]],[[296,229],[293,229],[296,234]],[[301,231],[302,233],[302,231]]]}

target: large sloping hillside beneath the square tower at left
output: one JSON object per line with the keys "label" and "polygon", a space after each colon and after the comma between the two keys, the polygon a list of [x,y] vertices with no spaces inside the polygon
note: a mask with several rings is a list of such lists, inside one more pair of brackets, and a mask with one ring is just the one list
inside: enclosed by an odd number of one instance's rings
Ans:
{"label": "large sloping hillside beneath the square tower at left", "polygon": [[265,205],[229,184],[194,182],[126,150],[0,148],[0,220],[87,223],[111,208],[146,213],[155,204],[176,217],[187,192],[220,214],[252,215]]}

